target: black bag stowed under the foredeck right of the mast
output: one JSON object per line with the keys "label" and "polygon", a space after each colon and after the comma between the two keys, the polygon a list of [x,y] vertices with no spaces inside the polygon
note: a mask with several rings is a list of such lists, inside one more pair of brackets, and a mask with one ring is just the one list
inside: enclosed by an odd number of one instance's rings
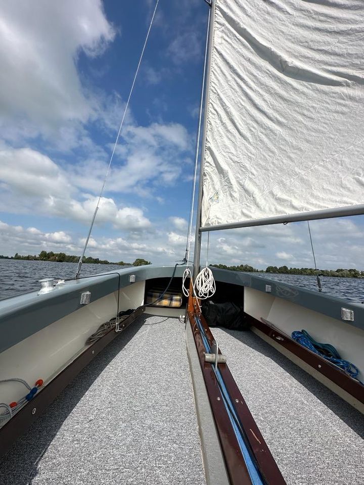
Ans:
{"label": "black bag stowed under the foredeck right of the mast", "polygon": [[232,330],[245,330],[248,325],[244,319],[244,310],[235,303],[202,303],[202,314],[210,327],[225,327]]}

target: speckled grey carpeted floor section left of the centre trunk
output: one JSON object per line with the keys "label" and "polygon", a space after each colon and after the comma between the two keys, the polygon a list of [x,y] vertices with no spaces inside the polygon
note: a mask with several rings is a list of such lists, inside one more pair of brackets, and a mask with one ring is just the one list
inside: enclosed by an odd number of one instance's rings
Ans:
{"label": "speckled grey carpeted floor section left of the centre trunk", "polygon": [[3,458],[0,483],[204,484],[184,324],[134,322]]}

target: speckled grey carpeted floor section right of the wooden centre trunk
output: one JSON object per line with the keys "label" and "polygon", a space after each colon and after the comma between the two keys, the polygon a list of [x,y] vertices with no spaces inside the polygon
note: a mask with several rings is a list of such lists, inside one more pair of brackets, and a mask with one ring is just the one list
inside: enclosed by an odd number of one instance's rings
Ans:
{"label": "speckled grey carpeted floor section right of the wooden centre trunk", "polygon": [[254,333],[212,333],[288,485],[364,483],[364,418]]}

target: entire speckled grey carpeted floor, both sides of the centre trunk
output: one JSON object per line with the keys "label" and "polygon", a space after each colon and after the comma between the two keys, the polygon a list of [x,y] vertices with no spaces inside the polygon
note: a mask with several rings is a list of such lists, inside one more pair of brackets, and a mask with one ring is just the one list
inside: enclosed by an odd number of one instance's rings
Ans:
{"label": "entire speckled grey carpeted floor, both sides of the centre trunk", "polygon": [[[364,419],[250,331],[212,332],[288,485],[357,485]],[[2,485],[205,484],[185,342],[143,315],[0,462]]]}

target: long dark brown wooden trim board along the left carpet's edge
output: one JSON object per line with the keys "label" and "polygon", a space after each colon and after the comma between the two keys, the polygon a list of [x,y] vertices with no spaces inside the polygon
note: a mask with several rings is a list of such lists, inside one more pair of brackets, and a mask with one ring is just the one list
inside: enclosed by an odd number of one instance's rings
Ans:
{"label": "long dark brown wooden trim board along the left carpet's edge", "polygon": [[[135,318],[144,313],[145,307],[139,307],[131,313],[120,324],[120,333],[132,323]],[[44,386],[34,398],[29,401],[19,412],[15,414],[0,429],[0,457],[3,456],[11,445],[29,428],[31,423],[37,419],[47,406],[67,387],[71,380],[81,372],[81,370],[92,361],[119,333],[114,329],[101,337],[95,344],[88,347],[71,364],[69,364],[60,374],[57,375],[49,384]],[[35,410],[35,411],[34,411]]]}

